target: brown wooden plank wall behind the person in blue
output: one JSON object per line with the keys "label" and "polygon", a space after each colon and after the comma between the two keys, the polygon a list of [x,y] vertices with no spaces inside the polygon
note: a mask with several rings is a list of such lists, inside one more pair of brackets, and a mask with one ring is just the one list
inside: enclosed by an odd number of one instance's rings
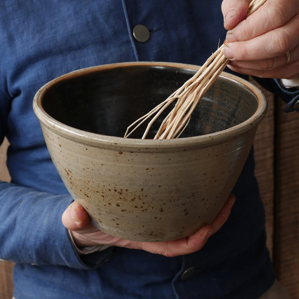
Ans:
{"label": "brown wooden plank wall behind the person in blue", "polygon": [[[299,114],[283,112],[285,104],[264,91],[269,109],[255,138],[256,176],[266,211],[267,246],[278,280],[299,299]],[[0,179],[7,141],[0,147]],[[1,246],[1,244],[0,244]],[[0,299],[11,299],[13,263],[0,261]]]}

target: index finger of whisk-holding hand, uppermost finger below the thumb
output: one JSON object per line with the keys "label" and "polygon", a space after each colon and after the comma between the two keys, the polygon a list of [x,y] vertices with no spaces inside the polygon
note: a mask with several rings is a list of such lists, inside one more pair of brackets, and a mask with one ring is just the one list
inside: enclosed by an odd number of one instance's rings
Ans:
{"label": "index finger of whisk-holding hand, uppermost finger below the thumb", "polygon": [[251,16],[228,31],[228,42],[245,41],[266,32],[280,28],[289,22],[299,10],[299,2],[292,1],[286,5],[285,0],[266,1]]}

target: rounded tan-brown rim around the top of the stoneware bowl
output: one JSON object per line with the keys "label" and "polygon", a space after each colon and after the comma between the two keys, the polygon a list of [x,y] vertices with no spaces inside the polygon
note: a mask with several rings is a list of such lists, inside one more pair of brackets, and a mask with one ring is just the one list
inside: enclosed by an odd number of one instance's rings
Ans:
{"label": "rounded tan-brown rim around the top of the stoneware bowl", "polygon": [[106,146],[121,146],[121,147],[133,147],[133,148],[147,148],[147,147],[158,147],[158,148],[170,148],[170,147],[184,147],[184,146],[200,146],[205,144],[205,146],[210,144],[215,144],[221,142],[224,138],[234,139],[237,138],[240,134],[252,129],[254,126],[257,126],[261,120],[264,118],[267,112],[268,104],[266,97],[262,93],[262,91],[249,81],[240,78],[236,75],[222,72],[219,77],[226,77],[230,80],[237,81],[238,83],[244,85],[247,89],[249,89],[256,97],[257,97],[257,110],[254,114],[245,120],[242,123],[239,123],[236,126],[231,128],[217,131],[211,134],[199,135],[193,137],[185,137],[185,138],[175,138],[175,139],[162,139],[162,140],[154,140],[154,139],[138,139],[138,138],[123,138],[123,137],[115,137],[108,135],[101,135],[96,133],[91,133],[87,131],[83,131],[80,129],[76,129],[74,127],[65,125],[58,120],[51,117],[42,107],[42,98],[44,94],[55,84],[75,77],[80,77],[85,74],[107,70],[112,68],[120,68],[120,67],[128,67],[128,66],[157,66],[157,67],[173,67],[173,68],[184,68],[190,70],[198,70],[200,68],[199,65],[191,65],[185,63],[176,63],[176,62],[120,62],[120,63],[112,63],[112,64],[104,64],[97,65],[88,68],[82,68],[75,71],[71,71],[69,73],[63,74],[45,85],[43,85],[35,94],[33,99],[33,110],[39,119],[41,125],[48,127],[48,129],[55,131],[57,134],[62,135],[71,140],[77,140],[89,145],[93,145],[98,147],[99,144]]}

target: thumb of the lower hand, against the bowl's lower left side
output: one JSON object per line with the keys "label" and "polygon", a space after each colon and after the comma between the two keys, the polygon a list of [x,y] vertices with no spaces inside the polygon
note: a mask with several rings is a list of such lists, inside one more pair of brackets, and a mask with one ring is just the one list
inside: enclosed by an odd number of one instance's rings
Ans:
{"label": "thumb of the lower hand, against the bowl's lower left side", "polygon": [[77,202],[72,202],[62,214],[63,225],[71,231],[79,231],[91,225],[86,210]]}

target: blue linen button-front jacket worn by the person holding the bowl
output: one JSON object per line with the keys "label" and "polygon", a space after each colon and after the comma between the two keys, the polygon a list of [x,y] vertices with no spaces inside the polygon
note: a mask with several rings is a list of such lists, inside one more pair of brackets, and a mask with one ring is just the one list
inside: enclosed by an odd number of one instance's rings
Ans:
{"label": "blue linen button-front jacket worn by the person holding the bowl", "polygon": [[[225,38],[220,6],[220,0],[0,2],[0,138],[11,144],[12,177],[0,183],[0,258],[17,263],[16,299],[254,299],[271,286],[253,150],[228,221],[202,250],[167,258],[112,247],[80,258],[61,223],[72,199],[32,109],[43,84],[79,68],[136,60],[201,65]],[[132,37],[138,24],[150,30],[146,43]],[[193,276],[181,280],[191,266]]]}

